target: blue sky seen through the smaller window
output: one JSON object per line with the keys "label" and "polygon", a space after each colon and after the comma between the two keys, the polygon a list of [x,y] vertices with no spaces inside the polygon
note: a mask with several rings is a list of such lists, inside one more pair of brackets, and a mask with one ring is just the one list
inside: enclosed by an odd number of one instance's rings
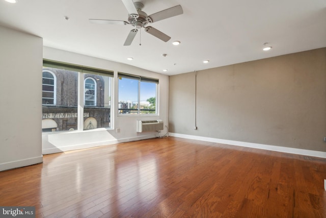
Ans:
{"label": "blue sky seen through the smaller window", "polygon": [[[138,81],[122,78],[119,79],[119,101],[138,101]],[[156,83],[141,82],[141,101],[155,97]]]}

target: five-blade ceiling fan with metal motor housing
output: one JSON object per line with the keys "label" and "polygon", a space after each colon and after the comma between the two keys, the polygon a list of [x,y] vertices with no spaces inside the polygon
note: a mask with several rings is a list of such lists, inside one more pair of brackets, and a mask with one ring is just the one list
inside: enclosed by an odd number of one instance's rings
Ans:
{"label": "five-blade ceiling fan with metal motor housing", "polygon": [[121,0],[129,12],[128,21],[123,20],[103,20],[103,19],[89,19],[92,23],[100,23],[100,24],[118,24],[118,25],[131,25],[134,27],[128,36],[123,45],[130,45],[133,38],[138,32],[138,29],[144,28],[145,31],[162,41],[169,41],[171,39],[170,36],[160,32],[159,30],[153,27],[146,27],[148,23],[156,22],[162,19],[166,19],[169,17],[174,17],[180,14],[183,14],[182,7],[180,5],[174,6],[172,8],[168,8],[163,11],[159,11],[152,15],[147,15],[142,9],[144,5],[140,2],[132,2],[132,0]]}

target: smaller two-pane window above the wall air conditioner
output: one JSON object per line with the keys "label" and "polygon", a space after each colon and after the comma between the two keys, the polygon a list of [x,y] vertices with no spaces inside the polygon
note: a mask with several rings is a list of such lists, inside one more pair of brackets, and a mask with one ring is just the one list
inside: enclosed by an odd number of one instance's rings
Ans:
{"label": "smaller two-pane window above the wall air conditioner", "polygon": [[158,79],[118,73],[119,114],[157,114]]}

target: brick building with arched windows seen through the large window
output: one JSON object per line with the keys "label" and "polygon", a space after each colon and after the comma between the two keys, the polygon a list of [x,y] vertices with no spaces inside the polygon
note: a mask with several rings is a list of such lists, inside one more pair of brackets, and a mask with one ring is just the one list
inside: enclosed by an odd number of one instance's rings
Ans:
{"label": "brick building with arched windows seen through the large window", "polygon": [[[110,127],[109,77],[84,75],[84,130]],[[77,130],[78,72],[43,68],[42,131]]]}

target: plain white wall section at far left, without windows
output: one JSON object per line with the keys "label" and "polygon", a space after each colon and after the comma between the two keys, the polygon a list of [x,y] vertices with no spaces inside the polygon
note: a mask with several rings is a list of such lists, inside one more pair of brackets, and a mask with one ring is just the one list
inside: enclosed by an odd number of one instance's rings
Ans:
{"label": "plain white wall section at far left, without windows", "polygon": [[42,47],[0,26],[0,171],[42,162]]}

